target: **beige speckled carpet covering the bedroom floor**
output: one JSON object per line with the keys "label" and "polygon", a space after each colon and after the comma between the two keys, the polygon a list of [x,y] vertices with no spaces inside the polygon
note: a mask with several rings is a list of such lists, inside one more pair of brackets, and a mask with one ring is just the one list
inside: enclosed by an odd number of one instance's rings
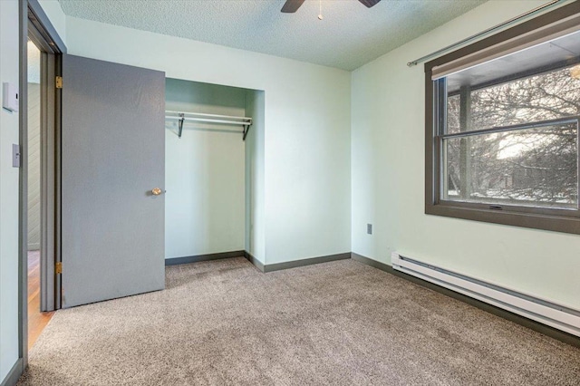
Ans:
{"label": "beige speckled carpet covering the bedroom floor", "polygon": [[575,385],[580,349],[353,260],[167,268],[57,312],[22,385]]}

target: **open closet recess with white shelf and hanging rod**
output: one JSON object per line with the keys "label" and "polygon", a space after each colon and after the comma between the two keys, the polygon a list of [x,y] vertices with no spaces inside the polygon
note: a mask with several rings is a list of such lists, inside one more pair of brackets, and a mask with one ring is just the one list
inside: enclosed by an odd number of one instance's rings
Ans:
{"label": "open closet recess with white shelf and hanging rod", "polygon": [[166,265],[256,256],[265,92],[166,79]]}

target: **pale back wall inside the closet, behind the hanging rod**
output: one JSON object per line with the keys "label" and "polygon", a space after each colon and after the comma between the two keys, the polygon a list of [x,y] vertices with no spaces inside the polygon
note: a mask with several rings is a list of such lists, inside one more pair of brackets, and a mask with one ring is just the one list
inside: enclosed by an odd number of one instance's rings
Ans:
{"label": "pale back wall inside the closet, behind the hanging rod", "polygon": [[[168,79],[166,109],[243,117],[246,90]],[[165,130],[166,258],[244,249],[245,145],[241,126],[177,121]]]}

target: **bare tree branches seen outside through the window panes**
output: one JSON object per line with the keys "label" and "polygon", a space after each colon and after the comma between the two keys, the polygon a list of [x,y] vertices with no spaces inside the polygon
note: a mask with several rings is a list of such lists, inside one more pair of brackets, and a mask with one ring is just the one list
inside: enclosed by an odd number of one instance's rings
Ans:
{"label": "bare tree branches seen outside through the window panes", "polygon": [[[447,97],[442,198],[578,206],[578,64]],[[470,131],[496,129],[492,132]]]}

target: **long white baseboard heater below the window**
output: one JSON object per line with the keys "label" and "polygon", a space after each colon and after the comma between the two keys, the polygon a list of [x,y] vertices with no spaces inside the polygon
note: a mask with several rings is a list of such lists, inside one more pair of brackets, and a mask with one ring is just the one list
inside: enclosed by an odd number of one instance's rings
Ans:
{"label": "long white baseboard heater below the window", "polygon": [[498,285],[488,284],[438,266],[425,264],[409,257],[391,254],[392,268],[448,288],[459,294],[493,304],[514,314],[547,324],[566,333],[580,336],[580,311],[565,305],[522,294]]}

